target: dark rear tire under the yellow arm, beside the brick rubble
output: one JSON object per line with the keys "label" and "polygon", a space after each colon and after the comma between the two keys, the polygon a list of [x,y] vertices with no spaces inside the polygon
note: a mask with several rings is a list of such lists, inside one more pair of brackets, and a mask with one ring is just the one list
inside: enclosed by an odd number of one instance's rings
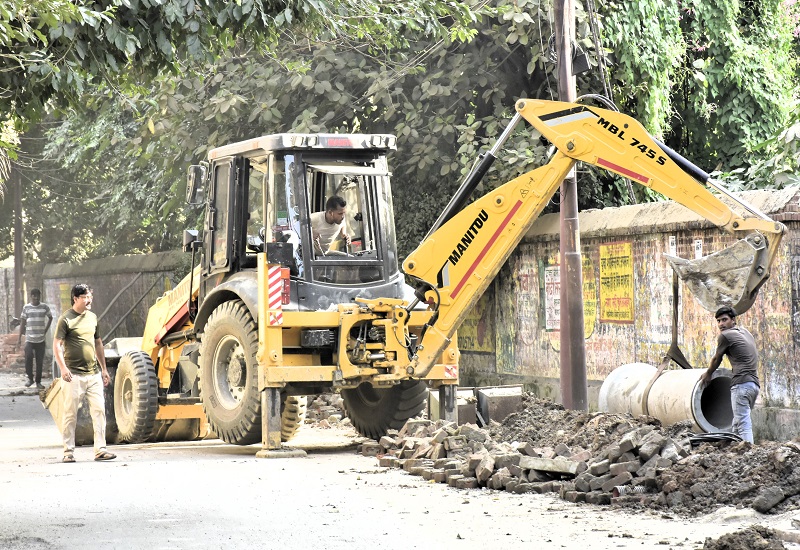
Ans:
{"label": "dark rear tire under the yellow arm, beside the brick rubble", "polygon": [[427,387],[419,380],[403,380],[391,388],[373,388],[368,382],[342,390],[347,415],[358,433],[379,439],[388,430],[399,430],[425,408]]}

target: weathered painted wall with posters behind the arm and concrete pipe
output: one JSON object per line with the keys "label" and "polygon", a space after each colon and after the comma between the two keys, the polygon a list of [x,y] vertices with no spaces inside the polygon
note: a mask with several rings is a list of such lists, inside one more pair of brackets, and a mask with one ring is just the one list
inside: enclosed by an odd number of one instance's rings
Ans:
{"label": "weathered painted wall with posters behind the arm and concrete pipe", "polygon": [[[783,221],[788,234],[771,278],[739,323],[759,345],[761,403],[800,408],[795,367],[800,341],[798,193],[744,195],[750,204]],[[633,362],[658,365],[669,349],[672,268],[664,254],[708,255],[733,244],[736,237],[672,202],[583,212],[580,227],[586,369],[596,390],[616,367]],[[481,299],[485,304],[460,329],[462,385],[489,379],[531,386],[550,380],[558,385],[558,252],[558,215],[543,216]],[[484,334],[480,345],[473,334],[478,326]],[[493,353],[485,341],[487,334],[494,334]],[[716,347],[716,323],[713,313],[703,309],[683,283],[679,285],[677,334],[689,363],[707,367]],[[594,390],[590,394],[596,394]],[[558,393],[552,388],[547,391]]]}

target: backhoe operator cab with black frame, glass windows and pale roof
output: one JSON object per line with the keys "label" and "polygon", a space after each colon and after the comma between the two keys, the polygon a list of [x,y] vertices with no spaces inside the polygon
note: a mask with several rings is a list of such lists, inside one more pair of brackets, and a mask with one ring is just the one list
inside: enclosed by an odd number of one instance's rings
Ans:
{"label": "backhoe operator cab with black frame, glass windows and pale roof", "polygon": [[[205,290],[201,284],[201,295],[229,274],[255,277],[262,252],[289,271],[285,309],[407,295],[386,161],[394,143],[382,134],[277,134],[212,150],[202,260],[209,282]],[[312,216],[317,223],[326,219],[334,196],[346,204],[349,244],[342,238],[322,243],[312,231]]]}

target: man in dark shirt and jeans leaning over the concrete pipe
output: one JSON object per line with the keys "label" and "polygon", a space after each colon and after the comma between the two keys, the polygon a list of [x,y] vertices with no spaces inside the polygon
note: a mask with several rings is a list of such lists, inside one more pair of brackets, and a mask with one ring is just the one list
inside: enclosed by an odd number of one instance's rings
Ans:
{"label": "man in dark shirt and jeans leaning over the concrete pipe", "polygon": [[750,443],[753,442],[753,423],[750,411],[760,391],[758,385],[758,350],[753,335],[744,327],[736,325],[736,311],[732,307],[721,307],[714,315],[720,334],[717,351],[711,358],[708,370],[700,377],[701,383],[711,380],[711,374],[727,355],[733,370],[731,379],[731,406],[733,408],[733,433]]}

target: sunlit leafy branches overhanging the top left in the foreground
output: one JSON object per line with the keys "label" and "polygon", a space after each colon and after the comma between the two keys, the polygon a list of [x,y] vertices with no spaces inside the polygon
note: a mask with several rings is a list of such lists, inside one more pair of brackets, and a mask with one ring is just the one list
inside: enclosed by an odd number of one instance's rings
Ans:
{"label": "sunlit leafy branches overhanging the top left in the foreground", "polygon": [[49,101],[76,104],[90,84],[180,74],[237,39],[274,46],[282,31],[305,31],[374,53],[404,45],[408,32],[468,37],[473,20],[464,4],[423,0],[12,0],[0,6],[0,113],[24,125]]}

